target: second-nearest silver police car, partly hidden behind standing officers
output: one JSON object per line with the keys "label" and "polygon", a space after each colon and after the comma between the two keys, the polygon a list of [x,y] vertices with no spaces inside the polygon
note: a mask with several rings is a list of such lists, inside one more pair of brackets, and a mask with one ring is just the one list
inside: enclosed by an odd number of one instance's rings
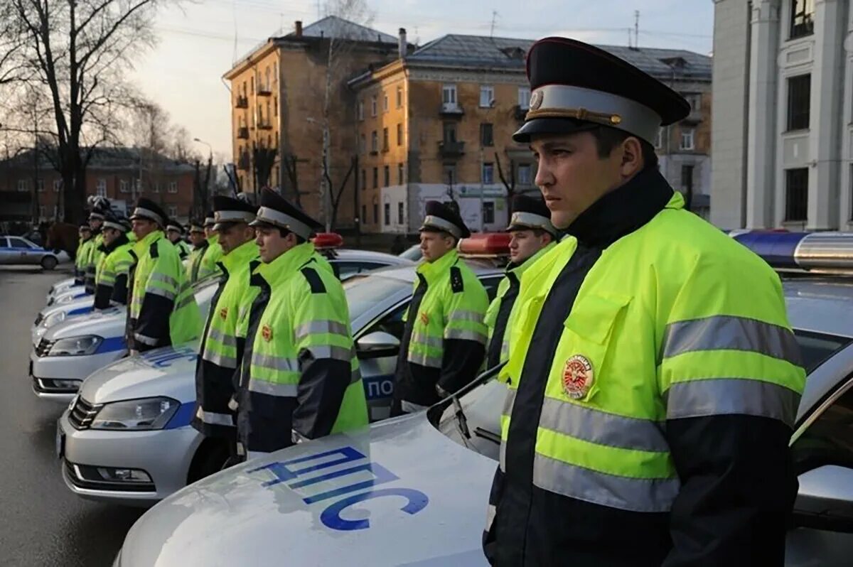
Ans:
{"label": "second-nearest silver police car, partly hidden behind standing officers", "polygon": [[[502,271],[472,265],[493,295]],[[403,311],[414,281],[415,269],[408,267],[344,283],[373,421],[390,412]],[[217,472],[227,447],[189,425],[194,403],[192,345],[151,350],[93,373],[57,424],[68,488],[90,500],[150,506]]]}

